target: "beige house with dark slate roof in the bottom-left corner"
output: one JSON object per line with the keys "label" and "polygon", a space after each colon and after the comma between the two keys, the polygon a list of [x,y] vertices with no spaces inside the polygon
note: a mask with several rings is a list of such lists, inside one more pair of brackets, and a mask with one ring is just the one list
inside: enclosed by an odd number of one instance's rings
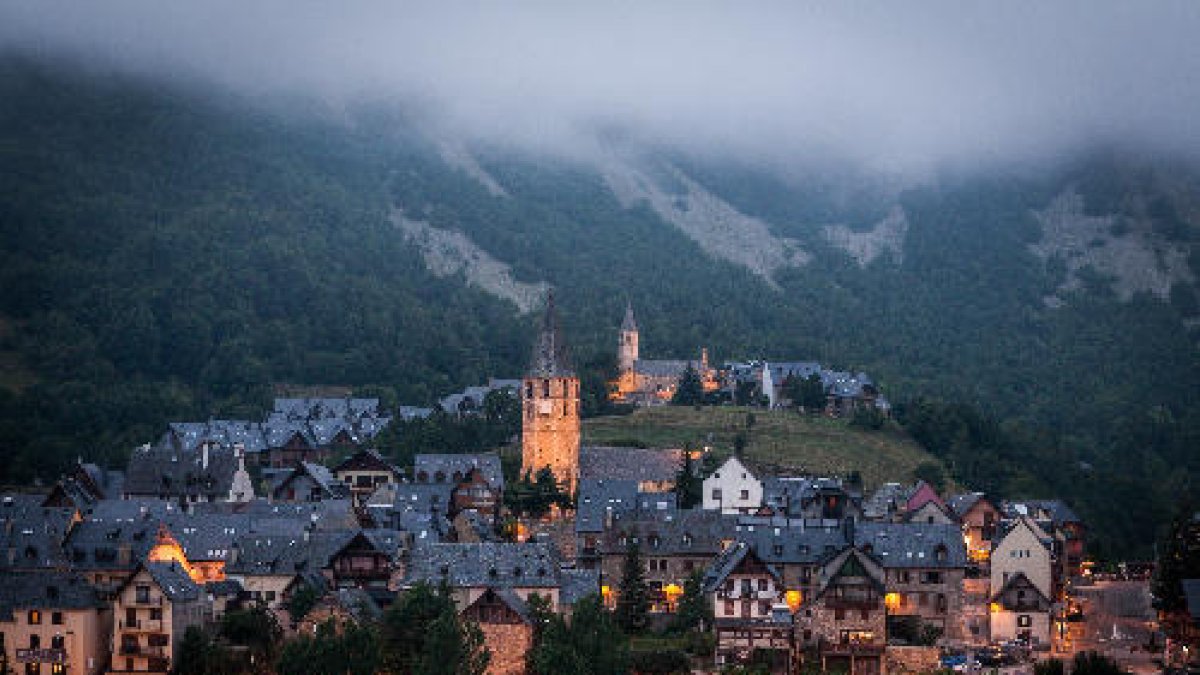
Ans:
{"label": "beige house with dark slate roof in the bottom-left corner", "polygon": [[112,632],[113,613],[83,577],[0,575],[0,647],[13,673],[103,673]]}

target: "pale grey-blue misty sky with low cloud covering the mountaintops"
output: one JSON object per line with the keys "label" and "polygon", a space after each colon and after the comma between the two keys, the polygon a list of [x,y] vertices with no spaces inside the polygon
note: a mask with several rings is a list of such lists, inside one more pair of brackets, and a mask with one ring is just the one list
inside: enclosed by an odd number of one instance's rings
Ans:
{"label": "pale grey-blue misty sky with low cloud covering the mountaintops", "polygon": [[0,43],[251,92],[421,101],[544,148],[596,130],[887,166],[1090,141],[1200,156],[1200,2],[0,0]]}

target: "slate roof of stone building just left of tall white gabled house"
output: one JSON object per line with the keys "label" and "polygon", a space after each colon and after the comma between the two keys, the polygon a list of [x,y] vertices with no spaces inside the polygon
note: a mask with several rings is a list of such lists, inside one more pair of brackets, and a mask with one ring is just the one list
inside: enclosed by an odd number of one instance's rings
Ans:
{"label": "slate roof of stone building just left of tall white gabled house", "polygon": [[[854,543],[887,568],[956,568],[967,566],[962,530],[937,522],[862,522]],[[944,558],[938,560],[938,551]]]}

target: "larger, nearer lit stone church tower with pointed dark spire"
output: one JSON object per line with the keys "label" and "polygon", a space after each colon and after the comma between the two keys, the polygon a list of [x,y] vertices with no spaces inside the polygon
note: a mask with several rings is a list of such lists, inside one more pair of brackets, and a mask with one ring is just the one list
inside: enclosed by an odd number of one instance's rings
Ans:
{"label": "larger, nearer lit stone church tower with pointed dark spire", "polygon": [[548,466],[568,492],[580,482],[580,378],[554,317],[554,293],[521,387],[521,476]]}

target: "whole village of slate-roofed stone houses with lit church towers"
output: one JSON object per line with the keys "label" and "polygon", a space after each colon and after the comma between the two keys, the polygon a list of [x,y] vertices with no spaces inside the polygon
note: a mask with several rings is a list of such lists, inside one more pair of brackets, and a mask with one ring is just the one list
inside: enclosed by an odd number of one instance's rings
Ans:
{"label": "whole village of slate-roofed stone houses with lit church towers", "polygon": [[[868,376],[817,364],[641,359],[631,310],[619,350],[612,396],[624,402],[662,404],[692,371],[704,392],[756,383],[770,406],[815,378],[826,414],[888,407]],[[263,422],[172,424],[124,471],[80,460],[46,494],[4,495],[5,665],[166,674],[196,628],[239,611],[265,611],[296,640],[326,622],[372,626],[428,586],[478,625],[493,674],[526,671],[541,608],[571,616],[588,598],[634,632],[700,608],[688,631],[707,647],[690,658],[712,670],[920,671],[947,649],[1070,640],[1087,527],[1052,496],[996,501],[778,474],[737,454],[583,446],[552,297],[521,380],[439,407],[472,414],[490,392],[520,399],[516,479],[496,453],[395,466],[373,449],[391,422],[378,400],[278,399]]]}

